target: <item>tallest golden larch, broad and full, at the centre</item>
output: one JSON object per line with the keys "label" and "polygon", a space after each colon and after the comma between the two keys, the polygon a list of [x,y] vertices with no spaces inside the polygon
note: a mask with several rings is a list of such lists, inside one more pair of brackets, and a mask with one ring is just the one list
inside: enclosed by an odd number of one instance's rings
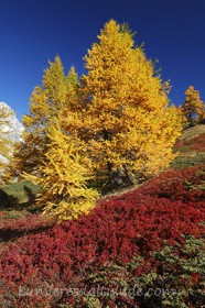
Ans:
{"label": "tallest golden larch, broad and full, at the centre", "polygon": [[128,26],[110,20],[85,56],[80,138],[96,174],[154,175],[175,157],[182,124],[162,82]]}

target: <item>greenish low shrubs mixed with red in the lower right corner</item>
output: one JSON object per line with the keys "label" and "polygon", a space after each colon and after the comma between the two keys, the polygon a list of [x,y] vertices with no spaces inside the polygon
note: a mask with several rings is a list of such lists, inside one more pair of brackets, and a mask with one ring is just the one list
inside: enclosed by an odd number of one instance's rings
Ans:
{"label": "greenish low shrubs mixed with red in the lower right corner", "polygon": [[184,243],[166,244],[149,258],[133,257],[125,266],[105,263],[90,274],[86,284],[99,290],[99,307],[202,307],[204,242],[183,238]]}

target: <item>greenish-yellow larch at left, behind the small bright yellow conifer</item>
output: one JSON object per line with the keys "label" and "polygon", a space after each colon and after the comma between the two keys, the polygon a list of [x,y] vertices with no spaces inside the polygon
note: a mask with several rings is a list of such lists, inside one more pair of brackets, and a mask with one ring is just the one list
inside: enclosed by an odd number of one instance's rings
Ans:
{"label": "greenish-yellow larch at left, behind the small bright yellow conifer", "polygon": [[72,67],[65,76],[64,67],[58,56],[50,62],[45,69],[42,86],[34,88],[30,98],[30,114],[23,117],[23,142],[17,145],[8,177],[21,177],[23,172],[39,172],[42,156],[46,153],[47,127],[60,110],[66,106],[69,109],[72,96],[77,87],[77,74]]}

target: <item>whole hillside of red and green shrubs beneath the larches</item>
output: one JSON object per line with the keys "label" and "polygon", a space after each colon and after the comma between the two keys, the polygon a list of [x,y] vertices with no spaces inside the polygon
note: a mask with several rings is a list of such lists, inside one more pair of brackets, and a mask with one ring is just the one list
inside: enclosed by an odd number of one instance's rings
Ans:
{"label": "whole hillside of red and green shrubs beneath the larches", "polygon": [[31,184],[4,187],[19,204],[1,205],[1,306],[203,307],[204,136],[184,131],[172,169],[71,222],[42,217]]}

